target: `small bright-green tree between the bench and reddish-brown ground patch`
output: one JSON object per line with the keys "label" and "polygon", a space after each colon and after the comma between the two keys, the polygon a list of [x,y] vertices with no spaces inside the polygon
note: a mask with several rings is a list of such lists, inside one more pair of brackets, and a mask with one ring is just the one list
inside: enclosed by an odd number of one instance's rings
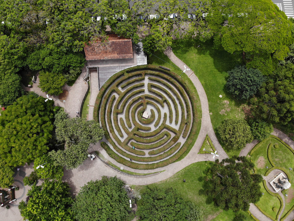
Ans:
{"label": "small bright-green tree between the bench and reddish-brown ground patch", "polygon": [[48,71],[40,71],[40,84],[39,88],[43,92],[53,95],[59,95],[62,93],[62,87],[66,83],[66,78],[61,74],[56,74]]}

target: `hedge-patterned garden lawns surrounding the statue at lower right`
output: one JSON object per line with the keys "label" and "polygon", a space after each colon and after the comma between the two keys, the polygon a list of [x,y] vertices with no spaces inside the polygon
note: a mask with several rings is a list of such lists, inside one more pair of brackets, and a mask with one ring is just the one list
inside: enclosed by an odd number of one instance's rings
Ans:
{"label": "hedge-patterned garden lawns surrounding the statue at lower right", "polygon": [[[280,169],[284,171],[290,180],[293,178],[293,170],[291,171],[289,168],[293,168],[294,165],[294,151],[275,136],[270,136],[256,144],[248,157],[255,164],[255,172],[259,174],[267,176],[273,169]],[[264,195],[256,205],[265,215],[276,220],[280,207],[283,207],[282,199],[278,194],[271,192],[266,187],[265,180],[261,186]],[[281,220],[285,219],[294,208],[293,185],[289,189],[283,190],[282,193],[284,195],[288,194],[288,196],[285,196],[285,210],[281,215]]]}

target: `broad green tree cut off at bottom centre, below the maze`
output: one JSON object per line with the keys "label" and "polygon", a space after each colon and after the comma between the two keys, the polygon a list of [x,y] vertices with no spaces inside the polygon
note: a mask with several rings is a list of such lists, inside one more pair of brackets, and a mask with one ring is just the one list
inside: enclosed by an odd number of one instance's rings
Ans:
{"label": "broad green tree cut off at bottom centre, below the maze", "polygon": [[202,221],[203,212],[173,188],[147,187],[136,215],[142,221]]}

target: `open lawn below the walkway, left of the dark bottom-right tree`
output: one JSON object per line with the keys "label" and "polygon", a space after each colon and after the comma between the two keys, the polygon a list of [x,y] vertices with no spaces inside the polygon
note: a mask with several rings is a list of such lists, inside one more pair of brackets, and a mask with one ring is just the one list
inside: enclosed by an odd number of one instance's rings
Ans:
{"label": "open lawn below the walkway, left of the dark bottom-right tree", "polygon": [[[160,188],[173,187],[177,189],[184,199],[190,200],[203,210],[205,220],[232,220],[235,217],[234,212],[232,210],[222,211],[218,207],[215,207],[212,199],[207,198],[203,190],[203,185],[207,182],[204,180],[204,177],[212,164],[213,162],[211,161],[193,163],[172,177],[148,186]],[[185,183],[183,179],[186,179]],[[139,195],[143,193],[146,186],[132,186],[132,188],[135,190],[135,196],[140,198]],[[141,203],[140,200],[137,203],[139,206]],[[246,221],[253,220],[247,212],[244,212],[244,215],[246,216]]]}

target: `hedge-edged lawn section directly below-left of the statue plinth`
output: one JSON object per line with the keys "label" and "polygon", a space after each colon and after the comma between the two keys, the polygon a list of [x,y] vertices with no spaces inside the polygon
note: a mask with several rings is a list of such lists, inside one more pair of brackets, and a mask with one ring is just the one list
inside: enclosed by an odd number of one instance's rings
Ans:
{"label": "hedge-edged lawn section directly below-left of the statue plinth", "polygon": [[[260,200],[255,205],[263,214],[265,214],[272,220],[276,220],[276,216],[282,205],[278,197],[273,196],[274,193],[270,194],[268,192],[270,190],[267,191],[265,189],[266,185],[264,185],[264,183],[261,183],[260,186],[261,186],[260,190],[262,193],[264,193],[264,195],[260,197]],[[273,207],[276,208],[275,209],[276,211],[273,211]]]}

